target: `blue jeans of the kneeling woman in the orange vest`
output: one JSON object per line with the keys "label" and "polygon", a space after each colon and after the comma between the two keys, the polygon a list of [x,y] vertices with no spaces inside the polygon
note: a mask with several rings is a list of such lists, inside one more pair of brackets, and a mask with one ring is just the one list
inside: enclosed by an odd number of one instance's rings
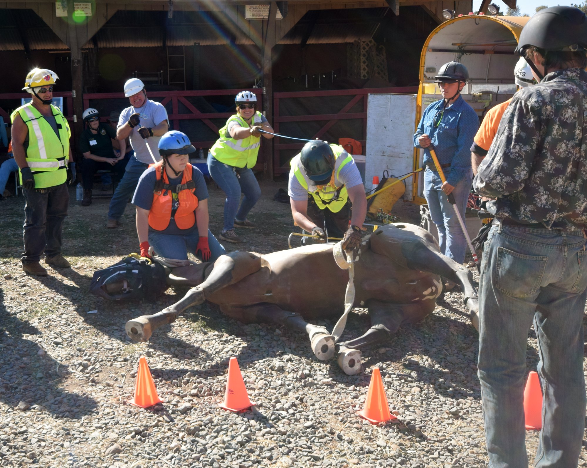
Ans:
{"label": "blue jeans of the kneeling woman in the orange vest", "polygon": [[[195,255],[198,240],[200,240],[200,235],[197,229],[194,229],[187,235],[163,234],[149,231],[149,244],[153,245],[156,254],[160,257],[175,258],[176,260],[187,260],[187,252]],[[226,253],[224,247],[218,243],[209,229],[208,245],[211,252],[209,262],[216,261],[220,255]],[[198,255],[198,258],[202,260],[201,255]]]}

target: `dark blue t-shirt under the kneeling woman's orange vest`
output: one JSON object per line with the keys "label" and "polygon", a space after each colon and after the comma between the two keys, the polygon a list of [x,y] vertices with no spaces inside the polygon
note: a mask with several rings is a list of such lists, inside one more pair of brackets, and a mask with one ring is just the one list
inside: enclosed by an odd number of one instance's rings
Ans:
{"label": "dark blue t-shirt under the kneeling woman's orange vest", "polygon": [[[208,187],[206,187],[204,176],[197,167],[191,166],[191,169],[191,179],[195,184],[194,195],[198,198],[198,201],[206,200],[208,198]],[[181,184],[181,174],[179,177],[167,177],[170,185]],[[137,184],[137,188],[133,195],[133,204],[139,208],[143,208],[143,210],[150,210],[151,205],[153,204],[153,190],[155,189],[156,182],[157,174],[155,173],[155,168],[149,167],[149,169],[143,172],[143,175],[139,179],[139,184]],[[149,226],[149,231],[163,234],[184,235],[197,229],[197,224],[198,220],[196,219],[195,224],[192,227],[188,229],[180,229],[177,227],[176,221],[171,218],[169,220],[169,225],[165,230],[157,231]]]}

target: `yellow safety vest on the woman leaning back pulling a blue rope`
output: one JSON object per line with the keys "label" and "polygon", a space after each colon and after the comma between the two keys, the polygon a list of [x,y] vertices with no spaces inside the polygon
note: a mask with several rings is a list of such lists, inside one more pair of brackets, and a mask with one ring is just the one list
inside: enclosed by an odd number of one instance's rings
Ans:
{"label": "yellow safety vest on the woman leaning back pulling a blue rope", "polygon": [[[261,125],[262,113],[257,111],[253,116],[251,125]],[[235,140],[230,136],[227,137],[226,129],[231,122],[238,122],[239,126],[247,128],[249,124],[245,119],[235,114],[226,121],[224,127],[218,132],[220,138],[216,140],[214,146],[210,148],[210,153],[218,161],[228,166],[245,167],[249,169],[257,164],[257,154],[259,153],[259,146],[261,146],[261,138],[256,136],[249,136],[244,140]]]}

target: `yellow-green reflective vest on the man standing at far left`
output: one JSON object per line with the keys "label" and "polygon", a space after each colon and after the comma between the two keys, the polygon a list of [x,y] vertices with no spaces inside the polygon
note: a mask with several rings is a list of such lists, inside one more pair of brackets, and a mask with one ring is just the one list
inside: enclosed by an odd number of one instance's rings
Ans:
{"label": "yellow-green reflective vest on the man standing at far left", "polygon": [[[60,110],[52,104],[50,109],[57,123],[59,137],[45,117],[30,102],[16,109],[10,116],[11,122],[14,123],[18,113],[29,130],[26,164],[31,168],[35,178],[35,188],[58,186],[68,177],[66,169],[71,130]],[[19,175],[22,184],[22,174]]]}

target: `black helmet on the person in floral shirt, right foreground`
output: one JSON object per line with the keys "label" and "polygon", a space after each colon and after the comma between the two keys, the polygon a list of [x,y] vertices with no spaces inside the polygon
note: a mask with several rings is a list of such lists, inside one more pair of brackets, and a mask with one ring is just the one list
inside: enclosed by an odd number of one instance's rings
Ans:
{"label": "black helmet on the person in floral shirt, right foreground", "polygon": [[579,50],[587,48],[587,17],[572,6],[551,6],[532,16],[519,35],[515,52],[535,46],[550,50]]}

